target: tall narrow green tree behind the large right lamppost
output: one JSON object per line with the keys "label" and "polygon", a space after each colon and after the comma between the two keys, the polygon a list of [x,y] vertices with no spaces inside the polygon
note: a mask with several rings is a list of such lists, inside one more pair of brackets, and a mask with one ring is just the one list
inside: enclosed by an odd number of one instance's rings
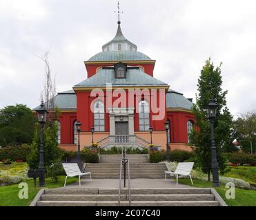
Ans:
{"label": "tall narrow green tree behind the large right lamppost", "polygon": [[195,149],[197,162],[201,170],[208,174],[210,180],[211,172],[211,144],[210,144],[210,122],[206,109],[210,99],[217,100],[217,115],[215,121],[215,142],[217,146],[217,160],[219,162],[219,170],[225,172],[224,158],[221,157],[221,152],[230,145],[230,128],[232,126],[232,116],[226,107],[226,94],[228,91],[223,91],[221,88],[221,65],[214,67],[210,58],[206,61],[201,70],[201,76],[198,80],[198,97],[197,103],[193,107],[195,114],[196,126],[191,134],[191,145]]}

